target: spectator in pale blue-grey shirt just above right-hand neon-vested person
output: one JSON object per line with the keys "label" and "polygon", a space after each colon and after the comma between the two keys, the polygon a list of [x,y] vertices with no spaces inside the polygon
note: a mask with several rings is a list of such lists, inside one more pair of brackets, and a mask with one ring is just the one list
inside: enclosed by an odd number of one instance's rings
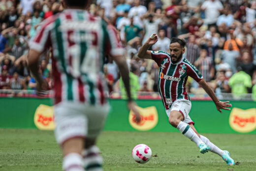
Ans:
{"label": "spectator in pale blue-grey shirt just above right-hand neon-vested person", "polygon": [[236,50],[233,50],[232,44],[229,43],[228,50],[223,50],[221,59],[224,63],[229,64],[229,66],[232,69],[232,72],[236,72],[237,67],[237,59],[239,58],[239,52]]}

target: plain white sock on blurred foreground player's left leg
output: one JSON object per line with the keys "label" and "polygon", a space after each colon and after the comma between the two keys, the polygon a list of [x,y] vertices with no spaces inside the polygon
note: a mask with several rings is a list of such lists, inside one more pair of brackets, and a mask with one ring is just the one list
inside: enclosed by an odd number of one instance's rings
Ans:
{"label": "plain white sock on blurred foreground player's left leg", "polygon": [[63,159],[64,171],[84,171],[83,158],[78,153],[70,153]]}

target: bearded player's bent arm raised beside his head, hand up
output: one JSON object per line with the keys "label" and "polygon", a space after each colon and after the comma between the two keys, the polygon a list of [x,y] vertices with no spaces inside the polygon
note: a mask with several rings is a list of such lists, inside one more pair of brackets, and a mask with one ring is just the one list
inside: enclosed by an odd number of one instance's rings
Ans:
{"label": "bearded player's bent arm raised beside his head, hand up", "polygon": [[138,52],[138,57],[141,59],[152,59],[151,52],[149,49],[150,46],[155,44],[158,41],[158,35],[152,34],[149,39],[141,46]]}

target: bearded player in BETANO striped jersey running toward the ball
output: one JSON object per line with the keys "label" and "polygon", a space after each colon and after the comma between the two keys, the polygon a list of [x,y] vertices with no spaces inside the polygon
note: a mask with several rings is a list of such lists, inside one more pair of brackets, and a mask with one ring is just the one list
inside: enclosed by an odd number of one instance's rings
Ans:
{"label": "bearded player in BETANO striped jersey running toward the ball", "polygon": [[159,70],[159,92],[162,98],[169,123],[177,128],[185,137],[190,138],[199,147],[201,153],[212,151],[220,155],[228,165],[235,162],[229,153],[221,150],[207,137],[199,135],[194,128],[194,122],[189,116],[191,109],[190,97],[186,91],[188,76],[196,80],[206,93],[212,98],[217,110],[230,110],[229,102],[218,100],[212,89],[207,85],[201,73],[187,59],[183,58],[186,42],[183,39],[172,38],[170,43],[170,54],[162,51],[149,51],[148,48],[158,41],[158,35],[153,34],[140,48],[138,57],[154,60]]}

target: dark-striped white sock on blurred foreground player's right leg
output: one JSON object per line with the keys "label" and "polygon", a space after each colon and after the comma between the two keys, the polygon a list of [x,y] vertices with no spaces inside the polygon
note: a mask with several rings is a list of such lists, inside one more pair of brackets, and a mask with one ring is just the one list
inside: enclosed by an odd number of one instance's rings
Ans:
{"label": "dark-striped white sock on blurred foreground player's right leg", "polygon": [[84,160],[84,167],[86,171],[103,171],[103,159],[99,154],[99,148],[96,145],[85,149],[82,153]]}

